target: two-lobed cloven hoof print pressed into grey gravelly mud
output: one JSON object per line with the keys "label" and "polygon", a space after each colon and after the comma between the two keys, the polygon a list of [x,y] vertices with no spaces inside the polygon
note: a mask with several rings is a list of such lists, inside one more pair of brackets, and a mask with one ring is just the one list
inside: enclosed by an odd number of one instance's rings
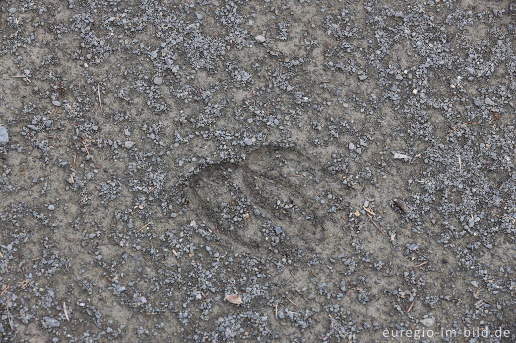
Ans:
{"label": "two-lobed cloven hoof print pressed into grey gravelly mud", "polygon": [[261,147],[243,162],[201,171],[191,181],[191,203],[199,204],[195,210],[217,232],[244,247],[264,251],[263,236],[275,245],[282,232],[289,241],[284,243],[297,245],[298,237],[324,236],[319,218],[334,206],[326,194],[337,186],[328,176],[320,162],[300,151]]}

